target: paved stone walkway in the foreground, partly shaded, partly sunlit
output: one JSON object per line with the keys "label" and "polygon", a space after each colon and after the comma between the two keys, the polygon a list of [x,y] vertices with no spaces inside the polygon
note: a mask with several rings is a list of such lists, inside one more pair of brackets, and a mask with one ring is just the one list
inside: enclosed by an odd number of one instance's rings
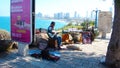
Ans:
{"label": "paved stone walkway in the foreground, partly shaded, partly sunlit", "polygon": [[22,57],[17,50],[0,53],[0,68],[107,68],[99,62],[106,55],[108,42],[109,39],[95,39],[92,44],[73,44],[82,51],[61,50],[57,62]]}

